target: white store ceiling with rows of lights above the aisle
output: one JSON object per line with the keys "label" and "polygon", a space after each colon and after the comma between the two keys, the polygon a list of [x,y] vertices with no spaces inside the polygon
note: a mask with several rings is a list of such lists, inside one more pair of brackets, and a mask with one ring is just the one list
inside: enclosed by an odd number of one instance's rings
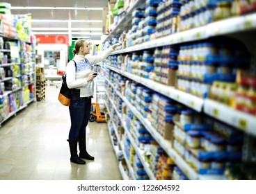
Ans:
{"label": "white store ceiling with rows of lights above the aisle", "polygon": [[[108,0],[6,0],[12,7],[29,6],[29,7],[77,7],[77,8],[103,8],[107,7]],[[85,36],[91,39],[100,39],[102,33],[102,10],[14,10],[11,9],[13,15],[31,14],[33,32],[42,34],[51,33],[67,33],[68,22],[44,22],[33,21],[33,19],[51,19],[51,20],[68,20],[69,12],[72,20],[89,20],[83,22],[72,22],[72,33],[78,32],[82,34],[72,34],[72,37]],[[42,30],[38,28],[51,28],[51,30]],[[65,28],[60,30],[52,30],[52,28]],[[79,30],[77,28],[83,28]],[[97,29],[93,29],[97,28]],[[85,34],[83,34],[85,33]]]}

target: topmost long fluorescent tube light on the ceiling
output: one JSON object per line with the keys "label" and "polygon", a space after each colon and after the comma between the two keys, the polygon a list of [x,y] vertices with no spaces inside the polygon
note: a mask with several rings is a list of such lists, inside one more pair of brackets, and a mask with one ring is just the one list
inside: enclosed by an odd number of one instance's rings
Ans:
{"label": "topmost long fluorescent tube light on the ceiling", "polygon": [[76,8],[76,7],[23,7],[11,6],[11,10],[103,10],[103,8]]}

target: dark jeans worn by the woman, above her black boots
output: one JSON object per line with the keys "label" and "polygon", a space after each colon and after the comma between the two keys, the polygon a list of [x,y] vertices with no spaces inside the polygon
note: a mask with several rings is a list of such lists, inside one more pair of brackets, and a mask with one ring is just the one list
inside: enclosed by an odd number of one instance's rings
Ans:
{"label": "dark jeans worn by the woman, above her black boots", "polygon": [[91,98],[85,97],[80,100],[71,100],[70,119],[71,127],[69,139],[79,139],[86,136],[86,126],[90,118]]}

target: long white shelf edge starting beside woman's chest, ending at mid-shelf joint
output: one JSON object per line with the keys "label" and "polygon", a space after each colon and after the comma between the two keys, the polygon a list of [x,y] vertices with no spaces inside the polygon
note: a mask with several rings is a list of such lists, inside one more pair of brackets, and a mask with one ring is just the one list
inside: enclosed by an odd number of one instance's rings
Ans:
{"label": "long white shelf edge starting beside woman's chest, ending at mid-shelf joint", "polygon": [[162,85],[160,83],[154,82],[153,80],[141,78],[131,73],[120,71],[119,69],[113,67],[106,67],[111,69],[112,71],[115,71],[116,73],[120,73],[122,76],[141,83],[142,85],[145,85],[146,87],[149,87],[150,89],[153,89],[154,91],[157,91],[164,96],[172,98],[173,100],[176,100],[177,102],[182,103],[187,107],[190,107],[191,109],[195,109],[198,112],[202,111],[202,105],[204,103],[204,100],[202,98],[198,98],[197,96],[185,93],[184,91],[179,91],[174,87]]}

